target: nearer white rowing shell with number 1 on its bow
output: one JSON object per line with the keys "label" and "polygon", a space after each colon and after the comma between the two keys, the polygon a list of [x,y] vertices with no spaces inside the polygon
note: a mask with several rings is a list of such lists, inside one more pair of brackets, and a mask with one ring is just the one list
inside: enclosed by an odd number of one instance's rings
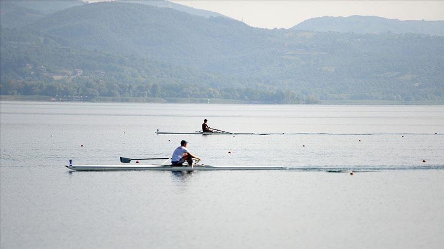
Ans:
{"label": "nearer white rowing shell with number 1 on its bow", "polygon": [[286,170],[286,167],[249,167],[249,166],[209,166],[197,164],[193,167],[187,165],[177,167],[161,164],[142,165],[65,165],[66,168],[75,171],[117,171],[117,170],[156,170],[156,171],[210,171],[210,170]]}

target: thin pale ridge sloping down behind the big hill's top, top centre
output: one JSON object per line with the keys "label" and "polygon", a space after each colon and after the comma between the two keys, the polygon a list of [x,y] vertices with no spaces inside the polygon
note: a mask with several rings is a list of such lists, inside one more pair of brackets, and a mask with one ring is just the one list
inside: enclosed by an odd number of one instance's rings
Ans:
{"label": "thin pale ridge sloping down behind the big hill's top, top centre", "polygon": [[228,17],[223,14],[219,14],[217,12],[213,12],[213,11],[209,11],[209,10],[195,9],[195,8],[192,8],[189,6],[176,4],[176,3],[164,1],[164,0],[142,0],[142,1],[141,0],[118,0],[118,1],[122,2],[122,3],[145,4],[145,5],[151,5],[151,6],[156,6],[156,7],[160,7],[160,8],[172,8],[172,9],[175,9],[178,11],[188,13],[190,15],[204,16],[207,18],[209,18],[209,17],[225,17],[225,18],[232,19],[231,17]]}

